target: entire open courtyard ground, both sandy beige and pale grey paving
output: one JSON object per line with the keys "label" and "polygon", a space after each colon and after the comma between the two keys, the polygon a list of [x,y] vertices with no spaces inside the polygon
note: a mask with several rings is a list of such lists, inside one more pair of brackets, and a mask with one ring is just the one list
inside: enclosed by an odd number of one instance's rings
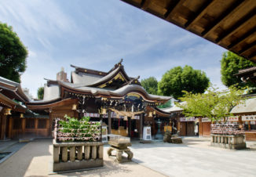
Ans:
{"label": "entire open courtyard ground, both sandy beige and pale grey paving", "polygon": [[[0,176],[47,176],[52,141],[38,140],[23,146],[0,164]],[[210,147],[209,139],[185,138],[181,145],[133,142],[133,161],[116,164],[104,146],[104,168],[51,176],[256,176],[256,150],[223,150]]]}

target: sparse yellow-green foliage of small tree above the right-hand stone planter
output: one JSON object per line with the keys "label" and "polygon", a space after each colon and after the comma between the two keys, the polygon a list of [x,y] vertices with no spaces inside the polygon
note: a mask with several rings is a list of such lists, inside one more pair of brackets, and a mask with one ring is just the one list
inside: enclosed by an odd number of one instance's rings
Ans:
{"label": "sparse yellow-green foliage of small tree above the right-hand stone planter", "polygon": [[208,88],[205,93],[185,92],[185,96],[180,98],[185,103],[177,103],[177,106],[183,109],[186,117],[208,117],[211,121],[218,121],[232,115],[232,108],[243,103],[242,94],[243,90],[234,86],[224,91]]}

